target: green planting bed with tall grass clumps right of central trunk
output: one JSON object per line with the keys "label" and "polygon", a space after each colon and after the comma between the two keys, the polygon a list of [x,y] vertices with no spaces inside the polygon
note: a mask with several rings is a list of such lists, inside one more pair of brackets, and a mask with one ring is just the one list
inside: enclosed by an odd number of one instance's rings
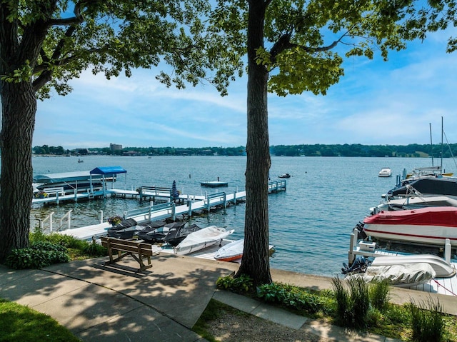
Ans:
{"label": "green planting bed with tall grass clumps right of central trunk", "polygon": [[390,286],[386,282],[368,284],[361,278],[333,278],[332,283],[331,291],[311,291],[283,283],[253,288],[248,277],[241,280],[227,276],[219,278],[216,285],[354,331],[402,341],[457,341],[457,317],[442,313],[438,302],[429,299],[422,305],[399,306],[389,303]]}

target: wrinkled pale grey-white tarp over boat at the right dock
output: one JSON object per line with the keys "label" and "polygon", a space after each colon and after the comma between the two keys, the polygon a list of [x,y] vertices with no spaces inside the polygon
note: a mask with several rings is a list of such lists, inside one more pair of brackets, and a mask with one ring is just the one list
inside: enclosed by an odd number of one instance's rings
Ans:
{"label": "wrinkled pale grey-white tarp over boat at the right dock", "polygon": [[368,266],[365,273],[347,276],[361,277],[367,283],[387,280],[392,286],[411,287],[430,281],[436,273],[428,263],[402,263],[389,266]]}

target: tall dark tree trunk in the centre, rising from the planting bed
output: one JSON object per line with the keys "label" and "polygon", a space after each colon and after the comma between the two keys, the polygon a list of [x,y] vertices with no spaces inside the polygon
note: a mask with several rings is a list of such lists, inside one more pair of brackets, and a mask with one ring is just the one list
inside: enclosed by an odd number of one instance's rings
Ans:
{"label": "tall dark tree trunk in the centre, rising from the planting bed", "polygon": [[255,286],[271,283],[268,256],[268,71],[255,61],[263,47],[266,4],[249,1],[248,14],[248,137],[246,144],[246,217],[243,260],[237,276],[247,274]]}

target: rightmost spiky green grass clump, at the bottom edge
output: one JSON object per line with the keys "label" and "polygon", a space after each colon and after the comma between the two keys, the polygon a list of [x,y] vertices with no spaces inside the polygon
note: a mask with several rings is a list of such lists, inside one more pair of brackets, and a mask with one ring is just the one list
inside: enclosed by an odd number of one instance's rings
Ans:
{"label": "rightmost spiky green grass clump, at the bottom edge", "polygon": [[445,326],[443,321],[443,307],[437,300],[428,299],[428,310],[419,308],[416,303],[408,304],[411,312],[411,328],[413,340],[418,342],[444,341]]}

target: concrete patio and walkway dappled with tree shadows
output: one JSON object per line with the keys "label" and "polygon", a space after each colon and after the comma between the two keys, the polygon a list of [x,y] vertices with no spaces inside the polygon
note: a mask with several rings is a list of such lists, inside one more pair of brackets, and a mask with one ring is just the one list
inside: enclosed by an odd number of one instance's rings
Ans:
{"label": "concrete patio and walkway dappled with tree shadows", "polygon": [[[211,298],[335,341],[394,341],[348,334],[343,328],[216,290],[217,278],[236,271],[236,263],[164,255],[154,258],[152,268],[135,273],[138,264],[133,258],[112,266],[104,266],[106,260],[72,261],[24,271],[0,266],[0,298],[48,314],[85,342],[206,341],[191,327]],[[331,288],[331,279],[326,277],[280,270],[271,270],[271,274],[273,281],[318,290]],[[428,293],[395,288],[391,297],[396,303],[411,299],[418,303],[428,298]],[[448,313],[457,314],[457,298],[444,296],[440,302]]]}

